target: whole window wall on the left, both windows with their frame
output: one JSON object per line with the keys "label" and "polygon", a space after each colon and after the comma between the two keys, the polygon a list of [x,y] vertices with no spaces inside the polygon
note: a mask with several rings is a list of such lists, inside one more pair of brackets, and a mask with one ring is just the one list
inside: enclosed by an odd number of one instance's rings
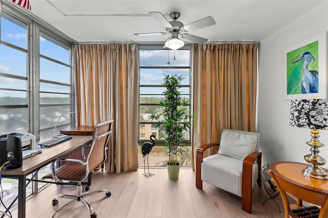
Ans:
{"label": "whole window wall on the left, both windows with their frame", "polygon": [[[60,114],[74,109],[71,87],[71,42],[42,22],[3,3],[0,44],[0,135],[30,132],[36,140],[50,136]],[[60,127],[74,120],[63,117]],[[60,128],[59,128],[60,129]],[[51,172],[40,169],[38,178]],[[29,176],[29,178],[31,175]],[[2,178],[5,205],[17,196],[18,182]],[[44,183],[29,183],[27,195]],[[3,206],[0,210],[4,211]]]}

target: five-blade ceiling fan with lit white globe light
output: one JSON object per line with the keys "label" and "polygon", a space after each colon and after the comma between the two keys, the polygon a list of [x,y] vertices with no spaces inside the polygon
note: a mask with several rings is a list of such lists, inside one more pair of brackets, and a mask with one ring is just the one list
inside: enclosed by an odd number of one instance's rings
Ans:
{"label": "five-blade ceiling fan with lit white globe light", "polygon": [[171,36],[165,42],[164,47],[168,47],[172,50],[177,50],[182,47],[185,42],[179,39],[179,35],[187,40],[203,44],[207,42],[208,39],[202,38],[199,36],[191,35],[188,32],[191,30],[196,30],[204,27],[209,27],[215,25],[215,20],[213,17],[208,16],[203,19],[197,20],[195,22],[189,23],[188,25],[183,25],[182,22],[177,21],[180,17],[180,12],[172,12],[170,17],[173,19],[172,21],[168,21],[160,12],[149,12],[149,14],[154,17],[161,25],[166,27],[167,32],[157,32],[157,33],[135,33],[136,36],[141,35],[165,35],[171,34]]}

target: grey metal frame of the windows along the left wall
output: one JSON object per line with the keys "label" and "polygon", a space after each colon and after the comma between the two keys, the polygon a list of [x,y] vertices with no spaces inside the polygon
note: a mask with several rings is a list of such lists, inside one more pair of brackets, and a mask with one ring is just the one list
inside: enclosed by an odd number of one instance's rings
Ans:
{"label": "grey metal frame of the windows along the left wall", "polygon": [[[48,37],[56,40],[63,46],[69,49],[69,74],[70,74],[70,103],[66,104],[70,106],[70,112],[75,110],[75,89],[74,89],[74,75],[73,75],[73,66],[72,66],[72,44],[75,42],[69,37],[65,36],[63,33],[53,29],[47,23],[44,23],[42,20],[39,20],[37,17],[32,14],[22,10],[20,6],[15,4],[2,1],[0,6],[0,13],[6,14],[6,16],[17,19],[20,22],[23,22],[27,25],[27,46],[26,50],[22,47],[18,47],[14,44],[3,42],[0,35],[0,43],[18,49],[19,51],[25,51],[27,53],[27,62],[26,62],[26,77],[15,76],[10,74],[5,74],[0,72],[0,77],[21,79],[27,81],[27,104],[20,105],[0,105],[0,109],[11,109],[11,108],[27,108],[27,132],[32,133],[36,137],[36,141],[40,139],[40,79],[39,79],[39,58],[43,55],[39,54],[39,37],[40,32],[47,35]],[[0,23],[1,27],[1,23]],[[48,58],[47,58],[48,59]],[[54,60],[57,62],[56,60]],[[65,63],[64,63],[65,64]],[[67,65],[67,64],[66,64]],[[67,65],[68,66],[68,65]],[[49,81],[47,81],[49,82]],[[52,81],[50,81],[53,83]],[[63,84],[60,84],[63,85]],[[67,84],[66,84],[67,85]],[[12,90],[8,88],[0,88],[1,90]],[[22,91],[22,90],[19,90]],[[51,105],[53,106],[53,105]],[[57,106],[60,106],[58,104]],[[70,124],[71,126],[75,125],[75,116],[71,116]],[[53,127],[55,126],[55,123]],[[51,129],[51,128],[50,128]],[[7,134],[11,132],[4,132],[0,134]],[[37,175],[36,175],[37,178]],[[32,194],[38,192],[37,182],[32,182]]]}

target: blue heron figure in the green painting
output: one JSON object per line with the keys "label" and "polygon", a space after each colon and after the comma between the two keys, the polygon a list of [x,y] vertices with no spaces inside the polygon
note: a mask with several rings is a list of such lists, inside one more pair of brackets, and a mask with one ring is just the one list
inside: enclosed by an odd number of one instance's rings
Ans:
{"label": "blue heron figure in the green painting", "polygon": [[292,64],[304,60],[303,65],[303,78],[301,83],[301,91],[306,93],[318,93],[318,71],[309,70],[308,66],[312,60],[315,61],[313,55],[310,52],[304,52],[300,58],[295,60]]}

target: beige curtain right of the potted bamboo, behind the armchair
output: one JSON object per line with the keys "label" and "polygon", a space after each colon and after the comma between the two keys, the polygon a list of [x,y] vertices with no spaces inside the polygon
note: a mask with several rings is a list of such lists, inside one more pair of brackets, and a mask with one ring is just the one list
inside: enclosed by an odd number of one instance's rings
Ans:
{"label": "beige curtain right of the potted bamboo, behind the armchair", "polygon": [[[193,45],[193,162],[222,129],[255,131],[258,44]],[[217,151],[211,151],[215,153]]]}

